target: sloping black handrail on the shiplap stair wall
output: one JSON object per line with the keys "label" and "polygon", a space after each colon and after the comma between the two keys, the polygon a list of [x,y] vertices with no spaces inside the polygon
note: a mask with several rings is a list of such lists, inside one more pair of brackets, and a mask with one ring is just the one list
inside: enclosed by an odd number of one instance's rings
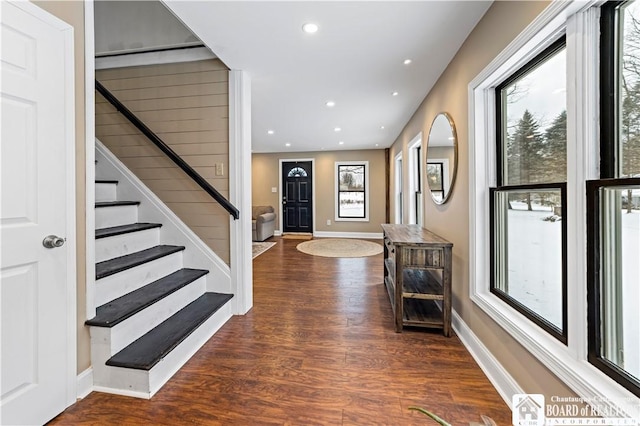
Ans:
{"label": "sloping black handrail on the shiplap stair wall", "polygon": [[178,154],[172,150],[169,145],[164,143],[162,139],[158,137],[151,129],[149,129],[134,113],[132,113],[126,106],[122,104],[113,96],[109,90],[107,90],[98,80],[96,80],[96,90],[113,105],[127,120],[138,128],[151,142],[155,144],[167,157],[169,157],[178,167],[180,167],[191,179],[193,179],[207,194],[211,195],[226,211],[229,212],[234,219],[240,217],[240,211],[229,200],[224,198],[209,182],[207,182],[198,172],[196,172],[189,164],[187,164]]}

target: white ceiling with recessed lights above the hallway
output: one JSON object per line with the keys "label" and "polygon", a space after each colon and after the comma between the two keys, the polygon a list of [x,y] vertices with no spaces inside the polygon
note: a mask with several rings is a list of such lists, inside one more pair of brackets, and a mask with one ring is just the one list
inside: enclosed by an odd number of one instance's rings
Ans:
{"label": "white ceiling with recessed lights above the hallway", "polygon": [[391,146],[491,1],[163,3],[250,75],[253,152],[299,152]]}

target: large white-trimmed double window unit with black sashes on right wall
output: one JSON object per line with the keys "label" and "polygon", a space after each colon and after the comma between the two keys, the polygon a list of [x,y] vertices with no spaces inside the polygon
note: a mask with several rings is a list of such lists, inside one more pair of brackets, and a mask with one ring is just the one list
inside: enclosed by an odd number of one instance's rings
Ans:
{"label": "large white-trimmed double window unit with black sashes on right wall", "polygon": [[[640,102],[633,100],[634,90],[627,92],[638,82],[631,70],[640,67],[624,62],[634,56],[626,52],[640,46],[640,38],[625,35],[639,28],[639,20],[627,16],[635,15],[635,7],[631,2],[551,2],[469,84],[471,300],[568,387],[594,401],[604,398],[607,408],[625,419],[640,418],[640,237],[635,233],[640,224],[634,221],[640,211],[634,207],[635,200],[640,202],[640,176],[632,163],[625,165],[625,158],[638,154],[633,141],[640,127],[640,115],[633,114]],[[563,34],[564,48],[554,45]],[[550,67],[536,75],[536,69],[554,63],[554,52],[565,56],[565,51],[566,70]],[[524,91],[529,83],[520,84],[519,78],[527,76],[535,78]],[[566,92],[545,86],[564,80]],[[542,102],[531,101],[535,93]],[[566,98],[566,116],[560,97]],[[537,106],[545,102],[562,109],[541,113]],[[512,115],[514,104],[522,107]],[[565,119],[566,124],[553,125]],[[532,132],[516,131],[528,122]],[[549,138],[563,133],[566,154],[549,156]],[[523,136],[519,141],[518,135]],[[563,150],[561,145],[553,149]],[[546,159],[548,167],[527,170],[531,154]],[[556,160],[566,161],[564,171],[554,166]],[[548,220],[534,220],[535,214]],[[519,216],[535,226],[566,227],[560,231],[566,232],[563,241],[558,242],[557,229],[534,234],[518,224]],[[532,267],[518,262],[523,243],[530,244],[526,261],[550,270],[522,274]],[[558,291],[548,277],[558,277],[560,269],[557,263],[547,265],[557,262],[558,250],[565,264],[564,342],[553,332],[558,305],[551,309],[542,298]],[[544,278],[537,285],[526,283],[535,293],[516,292],[532,276]],[[556,297],[550,298],[556,303]]]}

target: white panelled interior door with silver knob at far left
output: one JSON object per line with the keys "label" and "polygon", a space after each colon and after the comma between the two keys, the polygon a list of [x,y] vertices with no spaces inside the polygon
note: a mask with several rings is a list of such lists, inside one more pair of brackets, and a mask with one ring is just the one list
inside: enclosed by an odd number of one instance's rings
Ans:
{"label": "white panelled interior door with silver knob at far left", "polygon": [[1,8],[0,423],[43,424],[69,405],[75,376],[75,252],[43,245],[75,238],[73,48],[68,25],[33,4]]}

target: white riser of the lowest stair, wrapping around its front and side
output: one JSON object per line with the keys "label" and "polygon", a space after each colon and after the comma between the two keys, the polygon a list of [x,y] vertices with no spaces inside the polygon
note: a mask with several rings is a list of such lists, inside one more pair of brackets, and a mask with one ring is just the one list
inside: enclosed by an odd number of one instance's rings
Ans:
{"label": "white riser of the lowest stair, wrapping around its front and side", "polygon": [[[226,303],[149,371],[105,365],[107,358],[100,361],[94,357],[94,347],[95,352],[100,352],[100,348],[99,345],[93,346],[92,336],[94,388],[118,395],[151,398],[232,315],[231,304]],[[100,356],[98,353],[96,355]]]}

